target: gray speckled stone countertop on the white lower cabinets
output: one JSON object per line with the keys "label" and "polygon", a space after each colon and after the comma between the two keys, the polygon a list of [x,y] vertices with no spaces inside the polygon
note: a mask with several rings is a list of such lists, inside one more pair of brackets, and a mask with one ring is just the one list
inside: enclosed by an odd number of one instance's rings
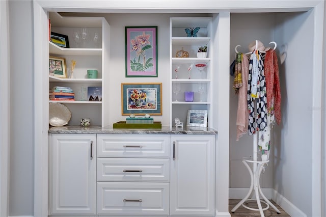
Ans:
{"label": "gray speckled stone countertop on the white lower cabinets", "polygon": [[48,133],[80,133],[80,134],[195,134],[215,135],[217,130],[207,127],[184,127],[176,130],[174,127],[162,126],[161,129],[113,129],[113,127],[67,125],[49,127]]}

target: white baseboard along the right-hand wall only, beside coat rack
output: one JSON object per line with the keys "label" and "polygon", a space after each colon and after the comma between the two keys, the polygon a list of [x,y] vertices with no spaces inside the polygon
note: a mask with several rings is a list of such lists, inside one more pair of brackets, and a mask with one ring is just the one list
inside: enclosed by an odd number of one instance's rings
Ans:
{"label": "white baseboard along the right-hand wall only, beside coat rack", "polygon": [[273,189],[273,200],[277,203],[284,211],[286,211],[290,216],[297,217],[307,217],[307,215],[301,211],[299,208],[294,206],[289,200],[279,194]]}

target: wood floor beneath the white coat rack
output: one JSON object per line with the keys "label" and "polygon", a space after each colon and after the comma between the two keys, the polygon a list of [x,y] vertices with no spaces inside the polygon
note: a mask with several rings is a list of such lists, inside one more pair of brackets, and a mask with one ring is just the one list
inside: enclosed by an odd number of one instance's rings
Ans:
{"label": "wood floor beneath the white coat rack", "polygon": [[[240,202],[240,200],[233,200],[233,199],[229,200],[229,212],[231,214],[231,217],[256,217],[256,216],[260,217],[261,216],[259,211],[252,211],[252,210],[244,208],[243,206],[240,206],[237,210],[235,210],[234,213],[232,213],[231,209],[233,209],[233,207],[235,205],[237,205],[238,202]],[[274,201],[271,200],[270,202],[273,203],[281,211],[281,213],[278,214],[272,207],[269,207],[269,209],[264,211],[265,217],[290,217],[290,215],[288,215]],[[244,205],[251,207],[251,208],[258,208],[256,201],[249,201],[249,202],[244,203]],[[262,203],[262,207],[265,207],[265,205],[263,203]]]}

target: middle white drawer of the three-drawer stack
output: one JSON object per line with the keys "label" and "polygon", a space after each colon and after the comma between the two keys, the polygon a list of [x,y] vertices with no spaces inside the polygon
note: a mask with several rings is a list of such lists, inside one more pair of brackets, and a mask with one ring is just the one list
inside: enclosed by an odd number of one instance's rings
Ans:
{"label": "middle white drawer of the three-drawer stack", "polygon": [[169,181],[169,158],[98,158],[97,181]]}

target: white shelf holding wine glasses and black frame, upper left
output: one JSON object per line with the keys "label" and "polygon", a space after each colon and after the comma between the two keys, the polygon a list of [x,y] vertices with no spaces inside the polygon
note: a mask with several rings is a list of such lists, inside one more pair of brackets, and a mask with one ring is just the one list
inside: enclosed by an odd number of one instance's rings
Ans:
{"label": "white shelf holding wine glasses and black frame, upper left", "polygon": [[102,48],[63,48],[49,41],[49,53],[50,56],[101,56]]}

